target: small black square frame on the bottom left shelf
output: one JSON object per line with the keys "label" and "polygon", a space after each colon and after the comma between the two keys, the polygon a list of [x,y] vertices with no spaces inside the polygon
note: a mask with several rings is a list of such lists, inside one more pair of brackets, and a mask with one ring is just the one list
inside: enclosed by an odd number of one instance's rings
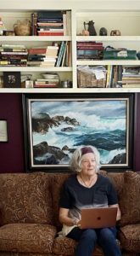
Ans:
{"label": "small black square frame on the bottom left shelf", "polygon": [[20,88],[21,87],[20,72],[3,72],[3,87]]}

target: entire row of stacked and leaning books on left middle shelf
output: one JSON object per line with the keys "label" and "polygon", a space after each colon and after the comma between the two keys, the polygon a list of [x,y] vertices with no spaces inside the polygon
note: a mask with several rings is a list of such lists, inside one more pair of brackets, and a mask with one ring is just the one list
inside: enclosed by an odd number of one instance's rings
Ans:
{"label": "entire row of stacked and leaning books on left middle shelf", "polygon": [[1,44],[0,66],[71,67],[71,43],[26,49],[25,45]]}

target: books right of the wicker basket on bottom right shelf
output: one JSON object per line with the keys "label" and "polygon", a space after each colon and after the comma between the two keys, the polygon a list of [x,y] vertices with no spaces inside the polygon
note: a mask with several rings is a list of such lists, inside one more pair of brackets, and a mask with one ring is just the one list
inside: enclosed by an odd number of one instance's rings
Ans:
{"label": "books right of the wicker basket on bottom right shelf", "polygon": [[108,65],[106,87],[140,88],[140,66]]}

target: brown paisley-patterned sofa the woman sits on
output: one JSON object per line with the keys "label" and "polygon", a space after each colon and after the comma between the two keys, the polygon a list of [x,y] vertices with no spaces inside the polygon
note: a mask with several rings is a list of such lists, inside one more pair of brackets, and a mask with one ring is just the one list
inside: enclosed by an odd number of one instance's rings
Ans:
{"label": "brown paisley-patterned sofa the woman sits on", "polygon": [[[118,192],[123,255],[140,255],[140,175],[106,173]],[[76,241],[57,236],[59,190],[70,174],[0,174],[0,256],[74,255]],[[103,255],[97,247],[93,255]],[[85,255],[86,256],[86,255]]]}

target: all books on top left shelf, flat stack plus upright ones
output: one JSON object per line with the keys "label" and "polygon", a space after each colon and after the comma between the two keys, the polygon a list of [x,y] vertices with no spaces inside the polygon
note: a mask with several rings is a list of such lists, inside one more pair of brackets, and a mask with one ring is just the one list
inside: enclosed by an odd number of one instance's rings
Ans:
{"label": "all books on top left shelf, flat stack plus upright ones", "polygon": [[31,34],[36,36],[70,36],[70,10],[48,10],[31,14]]}

